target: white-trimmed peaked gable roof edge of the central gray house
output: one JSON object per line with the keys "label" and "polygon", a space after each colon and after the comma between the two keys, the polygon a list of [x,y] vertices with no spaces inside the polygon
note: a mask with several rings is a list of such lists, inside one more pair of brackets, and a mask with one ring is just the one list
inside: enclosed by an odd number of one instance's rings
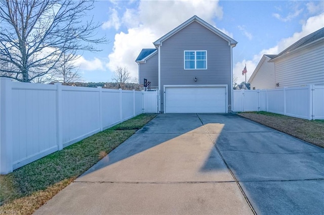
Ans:
{"label": "white-trimmed peaked gable roof edge of the central gray house", "polygon": [[226,34],[224,34],[223,32],[221,32],[220,30],[218,30],[217,28],[215,28],[212,25],[208,24],[207,22],[205,22],[204,20],[200,19],[197,16],[191,17],[186,22],[182,23],[181,25],[179,25],[178,27],[176,27],[175,29],[173,29],[172,31],[170,31],[169,33],[167,33],[166,35],[164,35],[163,37],[161,37],[158,40],[156,40],[155,42],[153,42],[153,44],[155,46],[160,46],[163,41],[167,40],[169,37],[173,36],[174,34],[176,34],[177,32],[179,32],[180,30],[182,30],[183,28],[185,28],[186,26],[188,26],[192,22],[197,22],[200,25],[203,25],[205,28],[209,29],[210,31],[212,31],[216,35],[218,35],[221,38],[223,38],[226,41],[228,41],[228,43],[231,46],[233,46],[233,47],[237,44],[237,42],[234,39],[230,38],[229,36],[227,36]]}

